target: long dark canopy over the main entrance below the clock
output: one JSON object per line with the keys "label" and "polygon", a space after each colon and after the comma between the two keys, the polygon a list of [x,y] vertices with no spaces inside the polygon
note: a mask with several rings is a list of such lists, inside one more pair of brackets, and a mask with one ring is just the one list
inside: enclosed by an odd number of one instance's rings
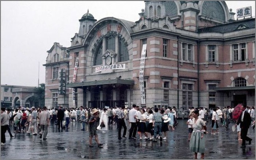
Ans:
{"label": "long dark canopy over the main entrance below the clock", "polygon": [[133,80],[126,79],[109,79],[102,81],[89,81],[89,82],[81,82],[81,83],[70,83],[67,84],[69,88],[83,88],[84,86],[95,86],[95,85],[109,85],[109,84],[124,84],[124,85],[134,85]]}

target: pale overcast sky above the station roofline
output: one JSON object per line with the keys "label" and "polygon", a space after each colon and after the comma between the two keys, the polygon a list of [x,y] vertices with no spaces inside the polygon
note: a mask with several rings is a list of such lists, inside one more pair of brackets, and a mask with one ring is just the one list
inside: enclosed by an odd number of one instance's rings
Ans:
{"label": "pale overcast sky above the station roofline", "polygon": [[[255,1],[226,1],[228,8],[252,6]],[[139,20],[144,1],[1,1],[1,85],[45,83],[47,50],[54,42],[70,47],[87,12],[100,20],[116,17]],[[39,63],[39,64],[38,64]]]}

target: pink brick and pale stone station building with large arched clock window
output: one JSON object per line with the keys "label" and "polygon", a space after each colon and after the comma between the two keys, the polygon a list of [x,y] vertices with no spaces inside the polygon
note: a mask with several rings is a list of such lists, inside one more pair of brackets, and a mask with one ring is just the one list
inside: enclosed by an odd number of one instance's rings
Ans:
{"label": "pink brick and pale stone station building with large arched clock window", "polygon": [[47,51],[45,104],[254,105],[255,18],[234,14],[225,1],[145,1],[136,22],[87,12],[70,47]]}

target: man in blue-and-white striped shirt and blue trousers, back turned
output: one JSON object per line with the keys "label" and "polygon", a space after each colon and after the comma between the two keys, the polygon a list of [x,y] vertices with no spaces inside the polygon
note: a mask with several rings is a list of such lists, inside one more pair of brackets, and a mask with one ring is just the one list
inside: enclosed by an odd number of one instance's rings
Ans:
{"label": "man in blue-and-white striped shirt and blue trousers, back turned", "polygon": [[153,115],[153,127],[154,127],[154,140],[153,142],[156,142],[156,135],[159,134],[160,141],[162,141],[162,116],[160,113],[158,113],[158,108],[155,108],[155,114]]}

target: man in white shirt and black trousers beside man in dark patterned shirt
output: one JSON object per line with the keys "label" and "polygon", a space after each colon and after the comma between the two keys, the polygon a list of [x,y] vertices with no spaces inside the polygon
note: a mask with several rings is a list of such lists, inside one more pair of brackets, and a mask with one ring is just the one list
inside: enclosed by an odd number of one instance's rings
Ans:
{"label": "man in white shirt and black trousers beside man in dark patterned shirt", "polygon": [[131,128],[129,132],[129,139],[136,139],[137,125],[136,125],[136,104],[132,105],[132,109],[129,111],[129,123],[131,123]]}

